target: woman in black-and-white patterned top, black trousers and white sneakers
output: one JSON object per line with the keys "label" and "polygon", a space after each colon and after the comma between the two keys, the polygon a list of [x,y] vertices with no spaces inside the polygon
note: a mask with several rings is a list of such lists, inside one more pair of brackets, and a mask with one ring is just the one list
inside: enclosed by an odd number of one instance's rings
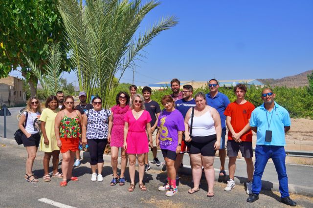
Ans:
{"label": "woman in black-and-white patterned top, black trousers and white sneakers", "polygon": [[[88,143],[91,166],[91,181],[103,181],[103,152],[108,144],[108,124],[111,110],[102,108],[102,99],[98,96],[91,101],[93,108],[83,115],[83,145]],[[98,176],[96,169],[98,168]]]}

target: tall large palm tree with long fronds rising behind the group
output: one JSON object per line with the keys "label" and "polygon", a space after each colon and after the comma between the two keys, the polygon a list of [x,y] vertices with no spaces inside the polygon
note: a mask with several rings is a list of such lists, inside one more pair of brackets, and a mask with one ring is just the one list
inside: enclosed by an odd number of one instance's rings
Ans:
{"label": "tall large palm tree with long fronds rising behind the group", "polygon": [[161,31],[178,23],[173,16],[161,18],[143,34],[138,27],[159,2],[141,0],[60,0],[59,12],[67,34],[70,61],[80,90],[97,93],[106,106],[112,80],[143,57],[140,53]]}

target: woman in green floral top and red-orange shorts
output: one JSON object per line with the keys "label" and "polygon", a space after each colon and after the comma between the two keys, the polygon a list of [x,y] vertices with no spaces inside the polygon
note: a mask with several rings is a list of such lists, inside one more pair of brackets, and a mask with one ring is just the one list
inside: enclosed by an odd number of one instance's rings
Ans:
{"label": "woman in green floral top and red-orange shorts", "polygon": [[79,137],[81,136],[82,115],[74,109],[74,99],[67,96],[61,111],[55,117],[55,137],[57,145],[62,153],[62,173],[63,180],[61,187],[67,186],[67,181],[78,181],[77,177],[72,177],[75,152],[78,150]]}

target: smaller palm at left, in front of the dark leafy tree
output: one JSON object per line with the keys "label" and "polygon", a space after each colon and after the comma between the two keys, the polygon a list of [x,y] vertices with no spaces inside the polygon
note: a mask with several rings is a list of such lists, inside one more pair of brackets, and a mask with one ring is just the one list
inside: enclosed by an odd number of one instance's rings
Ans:
{"label": "smaller palm at left, in front of the dark leafy tree", "polygon": [[48,63],[45,65],[44,72],[42,72],[28,57],[25,57],[25,59],[28,62],[32,73],[38,78],[39,83],[42,85],[45,97],[56,95],[57,91],[62,88],[62,52],[60,43],[51,43]]}

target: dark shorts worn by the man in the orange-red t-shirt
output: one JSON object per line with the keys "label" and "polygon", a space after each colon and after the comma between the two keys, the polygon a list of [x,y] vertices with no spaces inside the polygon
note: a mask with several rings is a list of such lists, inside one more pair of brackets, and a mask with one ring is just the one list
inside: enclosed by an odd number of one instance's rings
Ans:
{"label": "dark shorts worn by the man in the orange-red t-shirt", "polygon": [[234,140],[227,141],[228,157],[237,157],[239,150],[244,158],[253,157],[252,142],[235,142]]}

